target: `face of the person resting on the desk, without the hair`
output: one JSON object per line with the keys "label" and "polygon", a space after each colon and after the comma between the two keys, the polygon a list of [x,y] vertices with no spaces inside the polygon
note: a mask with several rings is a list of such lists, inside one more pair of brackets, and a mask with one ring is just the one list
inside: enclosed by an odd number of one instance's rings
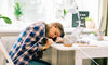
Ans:
{"label": "face of the person resting on the desk, without the hair", "polygon": [[55,26],[52,26],[49,30],[49,37],[50,38],[60,37],[60,30]]}

